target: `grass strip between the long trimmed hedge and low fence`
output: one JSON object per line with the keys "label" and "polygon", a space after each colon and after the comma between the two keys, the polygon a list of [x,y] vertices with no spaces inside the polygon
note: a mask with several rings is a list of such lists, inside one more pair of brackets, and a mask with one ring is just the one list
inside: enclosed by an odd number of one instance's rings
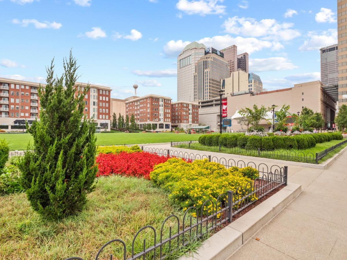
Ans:
{"label": "grass strip between the long trimmed hedge and low fence", "polygon": [[[316,146],[313,148],[309,148],[305,150],[279,149],[275,151],[260,151],[260,154],[258,153],[257,150],[246,150],[246,149],[238,148],[238,147],[227,148],[223,146],[221,147],[221,150],[219,150],[219,146],[206,146],[206,145],[201,145],[198,143],[193,143],[189,146],[188,144],[181,144],[175,147],[188,148],[188,149],[200,150],[200,151],[213,151],[213,152],[220,152],[220,153],[226,153],[226,154],[238,154],[238,155],[247,155],[247,156],[254,156],[254,157],[263,157],[263,158],[270,158],[270,159],[281,159],[285,161],[314,163],[316,153],[319,153],[344,140],[346,139],[331,140],[329,142],[323,142],[320,144],[316,144]],[[324,156],[319,161],[319,163],[331,158],[334,154],[338,153],[341,149],[343,149],[346,146],[347,144],[344,144],[344,145],[341,145],[339,148],[331,151],[327,156]]]}

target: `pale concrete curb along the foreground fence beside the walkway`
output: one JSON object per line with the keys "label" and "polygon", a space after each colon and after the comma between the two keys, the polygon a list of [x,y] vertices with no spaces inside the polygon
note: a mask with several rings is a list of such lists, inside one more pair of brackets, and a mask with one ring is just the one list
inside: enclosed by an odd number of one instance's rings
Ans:
{"label": "pale concrete curb along the foreground fence beside the walkway", "polygon": [[288,183],[276,194],[209,237],[195,253],[189,253],[180,260],[225,260],[229,258],[300,192],[301,185]]}

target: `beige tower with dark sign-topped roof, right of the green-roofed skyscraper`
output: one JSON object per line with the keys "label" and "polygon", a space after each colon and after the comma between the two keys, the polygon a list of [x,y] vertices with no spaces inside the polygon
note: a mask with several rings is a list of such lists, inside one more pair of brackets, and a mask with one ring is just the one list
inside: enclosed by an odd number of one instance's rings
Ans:
{"label": "beige tower with dark sign-topped roof, right of the green-roofed skyscraper", "polygon": [[223,52],[208,48],[195,65],[194,101],[218,97],[221,79],[229,77],[229,64]]}

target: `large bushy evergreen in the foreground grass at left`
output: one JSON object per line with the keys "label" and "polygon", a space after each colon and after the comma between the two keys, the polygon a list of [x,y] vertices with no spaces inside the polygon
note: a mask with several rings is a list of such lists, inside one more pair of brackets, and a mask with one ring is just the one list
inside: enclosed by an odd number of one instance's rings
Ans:
{"label": "large bushy evergreen in the foreground grass at left", "polygon": [[54,77],[54,65],[46,68],[46,86],[39,87],[40,120],[31,127],[33,146],[19,161],[22,185],[32,208],[49,219],[61,219],[81,211],[94,189],[95,126],[84,116],[83,100],[89,86],[76,86],[79,66],[70,51],[64,74]]}

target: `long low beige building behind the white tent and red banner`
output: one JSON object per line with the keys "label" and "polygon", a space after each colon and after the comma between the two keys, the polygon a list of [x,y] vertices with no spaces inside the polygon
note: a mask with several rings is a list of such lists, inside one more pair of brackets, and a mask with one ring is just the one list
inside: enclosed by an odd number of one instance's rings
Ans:
{"label": "long low beige building behind the white tent and red banner", "polygon": [[[322,88],[321,81],[312,81],[307,83],[295,84],[293,88],[285,88],[261,92],[258,95],[243,94],[228,96],[228,116],[235,114],[237,110],[245,107],[252,107],[254,104],[258,106],[264,105],[271,107],[276,105],[276,110],[280,109],[282,105],[290,106],[290,113],[296,114],[306,106],[313,110],[313,112],[320,112],[325,121],[325,127],[328,123],[332,123],[335,119],[336,102],[334,99]],[[265,120],[262,125],[269,129],[270,124]],[[245,125],[239,124],[237,120],[232,120],[231,130],[235,132],[246,130]]]}

